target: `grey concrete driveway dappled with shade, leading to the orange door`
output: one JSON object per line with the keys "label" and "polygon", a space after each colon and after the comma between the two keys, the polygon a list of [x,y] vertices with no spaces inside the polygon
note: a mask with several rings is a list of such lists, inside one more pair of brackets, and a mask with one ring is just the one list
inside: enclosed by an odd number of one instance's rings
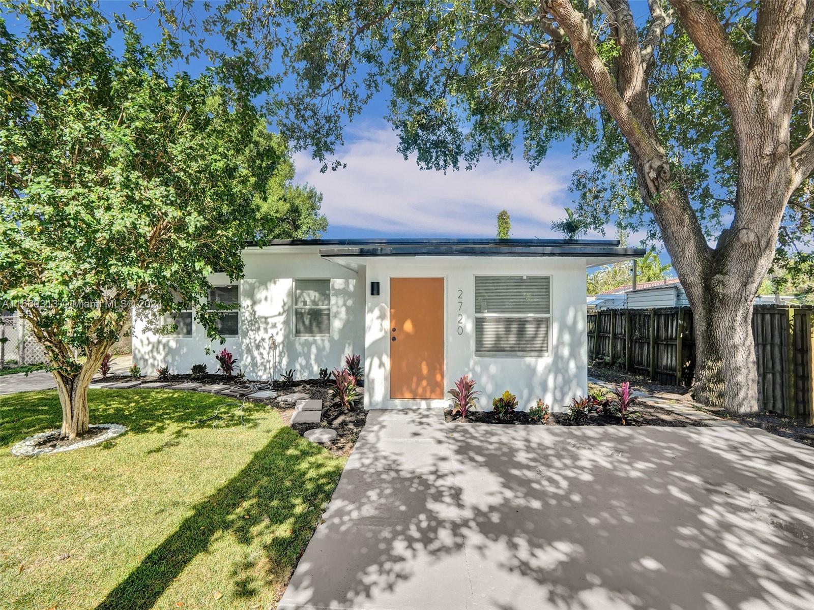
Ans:
{"label": "grey concrete driveway dappled with shade, leading to the orange door", "polygon": [[814,451],[372,411],[278,608],[814,608]]}

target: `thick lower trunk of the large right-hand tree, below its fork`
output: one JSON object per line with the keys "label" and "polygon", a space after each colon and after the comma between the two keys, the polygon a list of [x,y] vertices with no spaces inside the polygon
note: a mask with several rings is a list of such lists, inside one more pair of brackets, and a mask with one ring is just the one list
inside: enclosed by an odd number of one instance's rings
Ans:
{"label": "thick lower trunk of the large right-hand tree, below its fork", "polygon": [[694,399],[730,413],[758,411],[752,303],[710,294],[693,307]]}

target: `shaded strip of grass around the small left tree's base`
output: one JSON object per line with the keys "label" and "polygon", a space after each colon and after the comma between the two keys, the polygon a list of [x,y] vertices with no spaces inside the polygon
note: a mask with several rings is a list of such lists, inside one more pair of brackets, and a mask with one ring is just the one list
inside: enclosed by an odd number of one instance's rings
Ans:
{"label": "shaded strip of grass around the small left tree's base", "polygon": [[[183,438],[186,431],[211,427],[218,407],[220,415],[239,425],[240,401],[226,396],[183,390],[89,390],[90,424],[123,424],[128,434],[163,433],[169,425],[179,425],[173,433]],[[234,415],[229,416],[230,413]],[[62,407],[56,390],[22,392],[2,397],[0,409],[0,447],[38,432],[57,429],[62,422]],[[222,417],[216,424],[223,423]],[[257,425],[251,410],[243,417],[247,428]]]}

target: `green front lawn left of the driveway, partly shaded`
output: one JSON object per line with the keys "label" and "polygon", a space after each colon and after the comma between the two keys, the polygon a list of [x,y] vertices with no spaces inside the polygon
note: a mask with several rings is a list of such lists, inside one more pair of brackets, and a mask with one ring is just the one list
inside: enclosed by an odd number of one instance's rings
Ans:
{"label": "green front lawn left of the driveway, partly shaded", "polygon": [[0,608],[274,608],[344,460],[269,407],[90,390],[111,442],[20,459],[59,427],[55,391],[0,396]]}

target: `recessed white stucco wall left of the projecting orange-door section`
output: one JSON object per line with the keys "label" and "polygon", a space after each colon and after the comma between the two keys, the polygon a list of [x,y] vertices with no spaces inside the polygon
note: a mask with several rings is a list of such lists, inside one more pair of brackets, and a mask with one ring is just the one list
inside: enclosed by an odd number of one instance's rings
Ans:
{"label": "recessed white stucco wall left of the projecting orange-door section", "polygon": [[[320,368],[341,367],[347,354],[364,355],[365,272],[352,272],[322,259],[318,248],[310,251],[244,251],[245,277],[239,285],[239,336],[225,344],[210,342],[204,329],[193,324],[190,337],[164,337],[149,332],[138,312],[133,325],[133,362],[142,374],[168,366],[171,373],[189,373],[193,364],[217,369],[213,351],[228,348],[238,358],[243,373],[252,379],[279,378],[294,368],[296,379],[315,378]],[[295,278],[330,278],[330,336],[295,337],[293,282]],[[229,284],[223,274],[210,278],[213,285]],[[277,349],[271,349],[271,337]]]}

